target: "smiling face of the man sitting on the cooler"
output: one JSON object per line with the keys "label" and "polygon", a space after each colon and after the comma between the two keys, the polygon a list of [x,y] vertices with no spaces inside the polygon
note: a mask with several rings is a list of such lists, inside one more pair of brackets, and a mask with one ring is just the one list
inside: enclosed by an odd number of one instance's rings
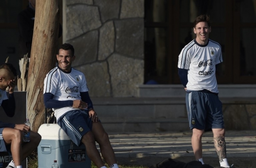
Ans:
{"label": "smiling face of the man sitting on the cooler", "polygon": [[71,64],[75,60],[75,56],[72,55],[71,50],[59,50],[59,54],[56,55],[59,67],[65,71],[70,72],[71,70]]}

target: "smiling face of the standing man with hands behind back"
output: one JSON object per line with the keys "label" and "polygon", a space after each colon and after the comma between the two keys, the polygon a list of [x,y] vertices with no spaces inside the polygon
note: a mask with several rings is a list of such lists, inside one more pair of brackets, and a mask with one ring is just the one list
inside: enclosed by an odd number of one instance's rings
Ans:
{"label": "smiling face of the standing man with hands behind back", "polygon": [[207,22],[199,22],[194,27],[194,33],[196,34],[196,42],[205,45],[208,42],[211,27],[208,26]]}

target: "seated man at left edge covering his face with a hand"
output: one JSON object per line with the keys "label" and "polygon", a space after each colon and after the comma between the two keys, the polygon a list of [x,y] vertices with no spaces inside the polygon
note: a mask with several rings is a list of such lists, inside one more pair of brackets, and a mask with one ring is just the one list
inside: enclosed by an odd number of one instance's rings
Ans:
{"label": "seated man at left edge covering his face with a hand", "polygon": [[[0,105],[3,107],[8,117],[13,117],[15,112],[15,99],[13,90],[15,87],[15,76],[17,75],[12,64],[0,65]],[[6,88],[9,86],[9,98]],[[22,168],[21,161],[26,159],[41,141],[41,136],[31,131],[30,142],[23,142],[24,132],[30,131],[30,127],[25,124],[9,124],[0,122],[0,151],[8,151],[11,148],[13,160],[7,168]],[[8,151],[10,152],[10,151]]]}

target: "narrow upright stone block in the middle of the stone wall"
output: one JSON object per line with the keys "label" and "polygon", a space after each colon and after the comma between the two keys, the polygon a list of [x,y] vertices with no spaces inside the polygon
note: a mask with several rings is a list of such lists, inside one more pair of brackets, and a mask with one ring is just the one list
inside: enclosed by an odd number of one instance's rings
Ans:
{"label": "narrow upright stone block in the middle of the stone wall", "polygon": [[113,21],[106,22],[100,28],[100,41],[99,41],[99,60],[106,59],[114,52],[115,48],[115,28]]}

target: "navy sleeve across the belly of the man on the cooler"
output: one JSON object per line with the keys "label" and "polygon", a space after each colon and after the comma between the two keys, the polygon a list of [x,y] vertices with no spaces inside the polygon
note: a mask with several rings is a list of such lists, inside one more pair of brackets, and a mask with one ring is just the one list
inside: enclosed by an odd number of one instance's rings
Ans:
{"label": "navy sleeve across the belly of the man on the cooler", "polygon": [[43,102],[45,103],[46,108],[63,108],[68,106],[73,106],[73,100],[54,100],[52,93],[43,94]]}

